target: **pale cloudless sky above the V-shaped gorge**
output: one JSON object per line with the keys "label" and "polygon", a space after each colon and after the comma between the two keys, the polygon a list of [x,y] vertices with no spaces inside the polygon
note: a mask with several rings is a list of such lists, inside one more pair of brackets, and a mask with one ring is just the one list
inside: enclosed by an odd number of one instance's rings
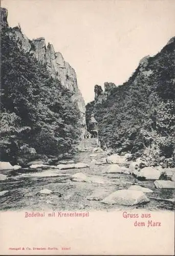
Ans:
{"label": "pale cloudless sky above the V-shaped gorge", "polygon": [[86,103],[94,86],[125,82],[140,59],[175,36],[174,0],[3,0],[9,26],[45,37],[77,74]]}

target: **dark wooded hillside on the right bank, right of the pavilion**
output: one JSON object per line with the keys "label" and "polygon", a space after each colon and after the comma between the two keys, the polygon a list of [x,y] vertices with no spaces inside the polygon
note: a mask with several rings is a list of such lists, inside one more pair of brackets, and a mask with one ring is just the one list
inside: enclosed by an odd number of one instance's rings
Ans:
{"label": "dark wooded hillside on the right bank, right of the pavilion", "polygon": [[[117,71],[116,71],[117,72]],[[127,82],[108,98],[86,105],[94,112],[104,147],[150,164],[174,166],[175,37],[154,57],[143,58]]]}

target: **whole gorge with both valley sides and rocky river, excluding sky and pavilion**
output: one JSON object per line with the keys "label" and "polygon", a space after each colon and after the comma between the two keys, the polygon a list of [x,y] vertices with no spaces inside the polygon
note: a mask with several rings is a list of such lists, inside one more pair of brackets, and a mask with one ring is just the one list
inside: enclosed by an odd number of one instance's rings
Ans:
{"label": "whole gorge with both valley sides and rocky river, excluding sky and pavilion", "polygon": [[[173,210],[174,38],[85,108],[52,44],[10,28],[5,8],[1,29],[1,210]],[[78,150],[92,113],[102,147]]]}

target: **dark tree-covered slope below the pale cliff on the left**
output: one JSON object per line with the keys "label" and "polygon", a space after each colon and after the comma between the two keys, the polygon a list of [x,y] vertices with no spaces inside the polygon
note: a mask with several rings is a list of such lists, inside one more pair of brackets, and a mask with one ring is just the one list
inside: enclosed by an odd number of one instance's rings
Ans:
{"label": "dark tree-covered slope below the pale cliff on the left", "polygon": [[1,31],[1,160],[68,152],[81,125],[73,92],[24,51],[15,30]]}

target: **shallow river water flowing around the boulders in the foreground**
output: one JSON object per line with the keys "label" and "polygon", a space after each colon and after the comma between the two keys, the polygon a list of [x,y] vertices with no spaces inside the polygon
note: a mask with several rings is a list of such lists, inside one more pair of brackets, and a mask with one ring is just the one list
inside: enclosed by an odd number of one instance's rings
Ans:
{"label": "shallow river water flowing around the boulders in the foreground", "polygon": [[[151,199],[147,204],[135,206],[108,205],[100,201],[88,200],[94,191],[99,195],[109,195],[118,189],[127,189],[131,184],[137,183],[154,190],[154,193],[146,194],[150,197],[170,199],[174,198],[174,189],[156,189],[154,181],[138,181],[128,174],[105,173],[108,164],[95,165],[95,161],[102,161],[106,156],[101,153],[77,153],[72,160],[74,162],[87,163],[90,167],[67,170],[31,170],[20,169],[8,172],[8,179],[0,181],[0,190],[9,192],[0,197],[1,210],[106,210],[145,208],[147,210],[173,210],[171,202]],[[37,177],[37,174],[43,177]],[[45,174],[56,173],[56,177],[45,177]],[[99,183],[86,183],[71,181],[75,173],[83,173],[88,177],[96,177]],[[7,172],[4,172],[7,175]],[[53,191],[50,195],[41,195],[39,191],[47,188]],[[61,195],[61,196],[60,196]],[[103,198],[105,197],[103,196]]]}

